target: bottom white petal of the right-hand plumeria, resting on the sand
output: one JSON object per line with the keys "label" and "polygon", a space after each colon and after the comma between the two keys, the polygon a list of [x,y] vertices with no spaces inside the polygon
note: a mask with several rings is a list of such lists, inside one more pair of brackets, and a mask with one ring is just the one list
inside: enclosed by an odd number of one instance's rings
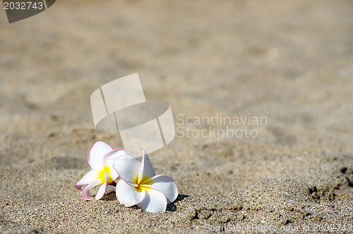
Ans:
{"label": "bottom white petal of the right-hand plumeria, resting on the sand", "polygon": [[164,212],[167,208],[167,199],[162,191],[157,188],[149,187],[145,199],[137,205],[145,211],[160,213]]}

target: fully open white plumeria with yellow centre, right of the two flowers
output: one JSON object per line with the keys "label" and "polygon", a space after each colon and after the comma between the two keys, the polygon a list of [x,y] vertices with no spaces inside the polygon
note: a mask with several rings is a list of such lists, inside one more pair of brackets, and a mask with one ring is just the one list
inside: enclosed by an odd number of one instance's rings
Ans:
{"label": "fully open white plumeria with yellow centre, right of the two flowers", "polygon": [[155,175],[150,158],[143,148],[141,163],[134,156],[121,156],[113,167],[121,180],[116,184],[116,197],[124,206],[137,205],[149,212],[163,212],[178,196],[172,177]]}

